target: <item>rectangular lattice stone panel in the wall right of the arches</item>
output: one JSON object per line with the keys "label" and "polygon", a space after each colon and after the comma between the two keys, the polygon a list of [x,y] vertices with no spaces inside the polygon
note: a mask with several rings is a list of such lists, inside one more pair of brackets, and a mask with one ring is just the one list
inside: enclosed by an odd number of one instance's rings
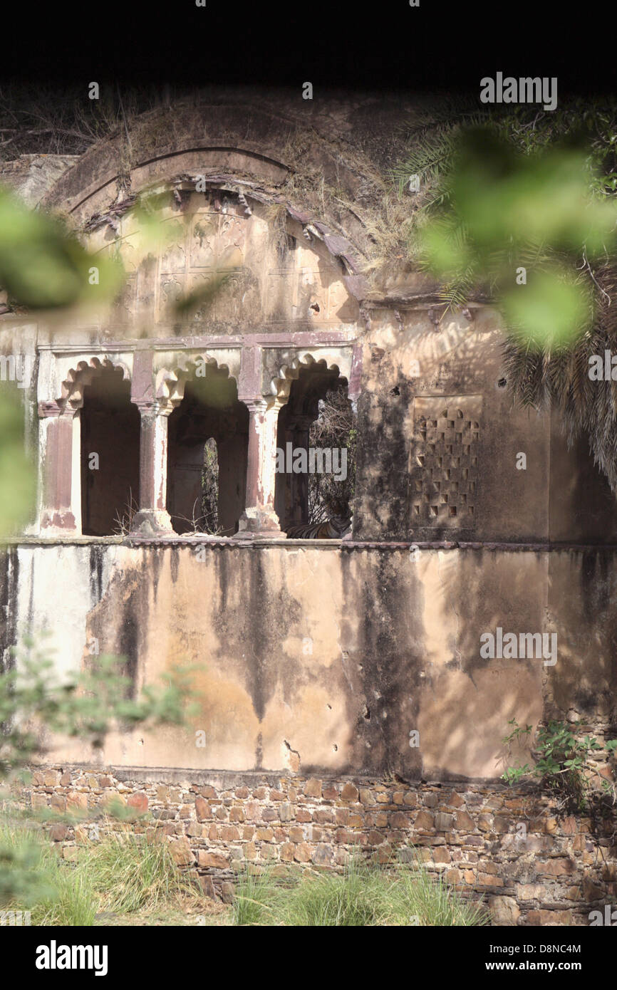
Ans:
{"label": "rectangular lattice stone panel in the wall right of the arches", "polygon": [[479,395],[414,400],[413,528],[470,529],[475,525],[481,405]]}

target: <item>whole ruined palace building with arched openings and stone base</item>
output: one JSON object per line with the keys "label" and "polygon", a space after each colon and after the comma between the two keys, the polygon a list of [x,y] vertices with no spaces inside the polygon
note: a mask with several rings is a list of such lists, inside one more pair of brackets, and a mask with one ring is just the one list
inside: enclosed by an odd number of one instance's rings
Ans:
{"label": "whole ruined palace building with arched openings and stone base", "polygon": [[[0,316],[2,352],[32,361],[40,478],[3,549],[4,662],[47,630],[58,671],[96,644],[136,691],[195,665],[199,706],[102,752],[50,741],[31,799],[120,794],[216,889],[239,861],[336,866],[413,842],[501,923],[586,924],[617,893],[610,842],[498,778],[513,718],[612,724],[615,501],[556,414],[513,405],[486,301],[445,312],[425,274],[372,272],[406,110],[221,93],[145,114],[129,141],[3,166],[127,271],[87,319]],[[145,191],[165,233],[146,251]],[[333,387],[357,415],[351,535],[287,539],[307,482],[276,472],[276,449],[309,446]],[[200,536],[211,439],[219,532]],[[557,662],[481,656],[497,628],[556,634]]]}

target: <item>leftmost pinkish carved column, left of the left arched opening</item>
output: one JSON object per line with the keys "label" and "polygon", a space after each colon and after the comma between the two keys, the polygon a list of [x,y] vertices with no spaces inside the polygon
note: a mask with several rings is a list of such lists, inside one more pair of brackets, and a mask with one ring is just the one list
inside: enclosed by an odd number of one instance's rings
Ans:
{"label": "leftmost pinkish carved column, left of the left arched opening", "polygon": [[81,530],[81,485],[79,475],[79,417],[71,406],[40,402],[41,417],[41,502],[42,533]]}

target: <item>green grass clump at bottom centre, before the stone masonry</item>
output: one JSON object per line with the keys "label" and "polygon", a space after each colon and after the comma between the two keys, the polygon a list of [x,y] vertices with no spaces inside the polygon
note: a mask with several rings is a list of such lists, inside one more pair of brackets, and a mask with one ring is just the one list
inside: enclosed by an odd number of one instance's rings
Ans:
{"label": "green grass clump at bottom centre, before the stone masonry", "polygon": [[284,887],[271,874],[240,877],[234,904],[237,925],[301,927],[477,926],[487,923],[440,876],[415,861],[387,869],[353,856],[345,872],[296,878]]}

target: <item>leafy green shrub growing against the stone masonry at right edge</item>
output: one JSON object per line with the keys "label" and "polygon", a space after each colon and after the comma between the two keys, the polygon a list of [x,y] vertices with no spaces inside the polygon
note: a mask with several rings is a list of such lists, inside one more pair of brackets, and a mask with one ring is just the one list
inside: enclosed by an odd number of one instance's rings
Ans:
{"label": "leafy green shrub growing against the stone masonry at right edge", "polygon": [[[532,744],[533,726],[521,728],[516,719],[508,723],[514,726],[512,732],[502,743],[510,749],[512,743],[523,745]],[[525,763],[523,766],[509,766],[502,774],[502,780],[508,784],[516,784],[525,776],[537,777],[550,791],[563,798],[567,806],[577,811],[586,811],[589,806],[590,780],[598,776],[590,754],[602,749],[602,746],[592,736],[580,738],[574,732],[579,723],[571,726],[565,722],[551,721],[546,726],[540,726],[533,740],[532,755],[534,765]],[[609,752],[617,749],[617,740],[610,740],[605,746]],[[616,799],[615,785],[600,778],[602,792]]]}

